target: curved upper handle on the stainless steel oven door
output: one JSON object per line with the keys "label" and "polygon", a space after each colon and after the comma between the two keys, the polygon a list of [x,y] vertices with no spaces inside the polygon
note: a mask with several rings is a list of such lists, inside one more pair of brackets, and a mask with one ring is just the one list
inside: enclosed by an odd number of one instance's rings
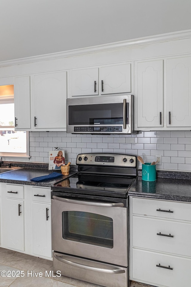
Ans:
{"label": "curved upper handle on the stainless steel oven door", "polygon": [[75,200],[75,199],[68,199],[68,198],[62,198],[59,196],[53,195],[53,199],[67,202],[67,203],[75,203],[75,204],[84,204],[84,205],[93,205],[93,206],[104,206],[104,207],[124,207],[124,204],[122,202],[118,203],[104,203],[104,202],[91,202],[91,201],[83,201],[83,200]]}

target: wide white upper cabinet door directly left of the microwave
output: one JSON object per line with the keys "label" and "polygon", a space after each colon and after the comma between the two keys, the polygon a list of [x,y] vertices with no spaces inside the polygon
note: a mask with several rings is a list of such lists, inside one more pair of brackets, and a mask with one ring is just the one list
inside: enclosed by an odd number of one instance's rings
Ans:
{"label": "wide white upper cabinet door directly left of the microwave", "polygon": [[66,128],[66,72],[34,75],[33,97],[35,130]]}

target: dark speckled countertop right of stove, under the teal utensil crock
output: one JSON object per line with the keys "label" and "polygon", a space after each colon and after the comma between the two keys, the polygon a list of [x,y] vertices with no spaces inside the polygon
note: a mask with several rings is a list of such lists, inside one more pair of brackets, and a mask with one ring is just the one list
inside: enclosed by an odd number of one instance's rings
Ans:
{"label": "dark speckled countertop right of stove, under the teal utensil crock", "polygon": [[128,196],[191,202],[191,179],[158,177],[156,181],[143,181],[138,176]]}

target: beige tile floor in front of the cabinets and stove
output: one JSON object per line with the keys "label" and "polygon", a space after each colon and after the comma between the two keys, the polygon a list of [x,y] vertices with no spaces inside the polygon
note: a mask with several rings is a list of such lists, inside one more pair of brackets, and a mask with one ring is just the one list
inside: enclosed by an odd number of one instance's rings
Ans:
{"label": "beige tile floor in front of the cabinets and stove", "polygon": [[[15,274],[19,274],[21,270],[24,271],[24,276],[15,277]],[[49,273],[50,270],[53,270],[53,262],[50,260],[0,248],[0,274],[2,271],[13,271],[12,277],[10,272],[7,272],[10,277],[3,277],[2,275],[6,272],[2,272],[0,275],[0,287],[101,287],[100,285],[66,276],[47,277],[45,271]],[[31,271],[42,272],[42,277],[33,277],[30,274],[27,276],[27,271],[29,273],[31,273]],[[132,282],[130,287],[147,286]]]}

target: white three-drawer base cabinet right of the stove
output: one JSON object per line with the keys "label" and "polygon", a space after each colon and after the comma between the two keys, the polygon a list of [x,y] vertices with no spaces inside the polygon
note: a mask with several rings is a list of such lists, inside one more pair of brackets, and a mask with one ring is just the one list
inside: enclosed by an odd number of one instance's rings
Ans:
{"label": "white three-drawer base cabinet right of the stove", "polygon": [[189,286],[191,220],[186,215],[191,204],[136,197],[129,202],[130,280]]}

